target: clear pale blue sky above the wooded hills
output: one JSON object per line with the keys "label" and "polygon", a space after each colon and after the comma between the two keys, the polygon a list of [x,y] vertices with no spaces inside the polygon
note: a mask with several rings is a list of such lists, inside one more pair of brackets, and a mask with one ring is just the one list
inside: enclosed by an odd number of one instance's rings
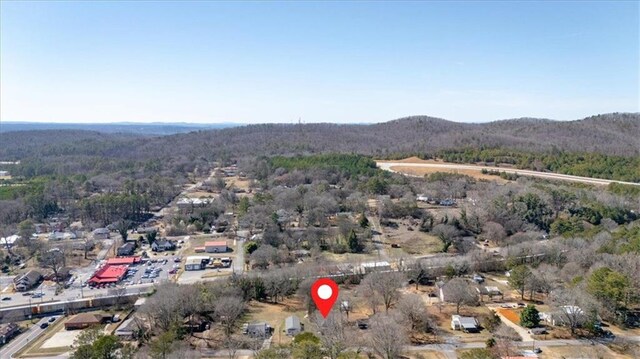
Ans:
{"label": "clear pale blue sky above the wooded hills", "polygon": [[0,120],[485,122],[639,111],[639,3],[14,2]]}

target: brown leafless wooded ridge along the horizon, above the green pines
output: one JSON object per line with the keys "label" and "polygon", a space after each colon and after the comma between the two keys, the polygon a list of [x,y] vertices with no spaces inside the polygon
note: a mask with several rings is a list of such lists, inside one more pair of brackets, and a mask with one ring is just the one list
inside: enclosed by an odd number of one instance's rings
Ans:
{"label": "brown leafless wooded ridge along the horizon, above the green pines", "polygon": [[[48,131],[0,133],[0,158],[15,160],[51,153],[83,155],[83,151],[97,151],[116,158],[135,154],[139,158],[181,157],[185,160],[322,152],[389,157],[465,147],[640,156],[639,113],[611,113],[576,121],[522,118],[458,123],[429,116],[411,116],[376,124],[255,124],[222,129],[189,128],[190,132],[153,137],[142,136],[140,132],[129,132],[125,136],[80,130],[74,130],[73,134],[57,130],[55,136]],[[139,138],[132,141],[131,136]],[[92,143],[98,150],[92,148]]]}

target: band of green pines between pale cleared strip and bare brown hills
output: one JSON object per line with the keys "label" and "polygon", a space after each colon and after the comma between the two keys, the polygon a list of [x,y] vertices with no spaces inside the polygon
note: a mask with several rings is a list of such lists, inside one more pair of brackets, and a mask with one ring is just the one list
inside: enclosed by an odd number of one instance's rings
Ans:
{"label": "band of green pines between pale cleared strip and bare brown hills", "polygon": [[640,157],[637,156],[568,153],[560,150],[532,153],[503,148],[467,148],[439,151],[435,157],[455,163],[508,164],[519,169],[640,182]]}

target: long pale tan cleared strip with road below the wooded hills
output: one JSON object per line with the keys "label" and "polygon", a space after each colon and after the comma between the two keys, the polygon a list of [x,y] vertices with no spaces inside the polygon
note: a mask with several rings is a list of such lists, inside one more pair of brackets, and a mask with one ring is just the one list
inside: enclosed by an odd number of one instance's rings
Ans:
{"label": "long pale tan cleared strip with road below the wooded hills", "polygon": [[561,181],[571,181],[571,182],[580,182],[587,184],[596,184],[596,185],[608,185],[611,183],[622,183],[628,184],[632,186],[640,186],[640,183],[634,182],[624,182],[624,181],[614,181],[607,180],[601,178],[590,178],[590,177],[581,177],[581,176],[571,176],[571,175],[563,175],[559,173],[551,173],[551,172],[538,172],[531,170],[519,170],[514,168],[504,168],[504,167],[489,167],[489,166],[476,166],[476,165],[460,165],[454,163],[403,163],[403,162],[376,162],[377,166],[383,170],[401,173],[392,169],[392,167],[422,167],[422,168],[441,168],[447,170],[473,170],[473,171],[481,171],[486,169],[488,171],[499,171],[506,173],[517,173],[520,176],[528,176],[528,177],[537,177],[544,178],[550,180],[561,180]]}

